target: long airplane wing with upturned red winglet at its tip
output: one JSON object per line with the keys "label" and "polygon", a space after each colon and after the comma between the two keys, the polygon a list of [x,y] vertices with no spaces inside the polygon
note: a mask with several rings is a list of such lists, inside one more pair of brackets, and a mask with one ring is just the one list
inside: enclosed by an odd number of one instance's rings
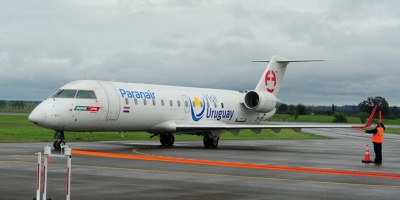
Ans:
{"label": "long airplane wing with upturned red winglet at its tip", "polygon": [[367,128],[371,126],[374,119],[377,106],[371,112],[367,122],[365,124],[350,125],[350,124],[287,124],[287,125],[272,125],[272,124],[259,124],[259,125],[236,125],[236,124],[176,124],[176,131],[215,131],[215,130],[227,130],[227,131],[239,131],[240,129],[250,129],[254,132],[261,132],[262,129],[271,129],[274,132],[279,132],[281,129],[293,129],[295,131],[301,131],[302,128]]}

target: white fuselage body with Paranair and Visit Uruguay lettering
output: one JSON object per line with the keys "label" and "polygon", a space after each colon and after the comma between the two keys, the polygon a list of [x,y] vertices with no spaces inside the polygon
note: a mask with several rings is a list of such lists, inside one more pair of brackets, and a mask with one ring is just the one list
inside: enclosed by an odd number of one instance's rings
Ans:
{"label": "white fuselage body with Paranair and Visit Uruguay lettering", "polygon": [[[77,93],[47,98],[31,113],[31,121],[56,131],[163,133],[174,132],[160,125],[168,121],[254,124],[276,111],[248,109],[243,103],[246,93],[230,90],[96,80],[71,82],[60,90]],[[79,91],[93,91],[95,96],[81,98]]]}

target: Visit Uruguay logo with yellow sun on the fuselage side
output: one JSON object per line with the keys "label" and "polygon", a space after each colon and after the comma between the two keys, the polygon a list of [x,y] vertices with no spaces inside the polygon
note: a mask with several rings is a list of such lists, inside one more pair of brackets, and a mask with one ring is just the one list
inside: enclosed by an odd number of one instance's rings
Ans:
{"label": "Visit Uruguay logo with yellow sun on the fuselage side", "polygon": [[[207,98],[209,101],[211,98],[210,95],[203,95],[205,98]],[[211,95],[213,97],[212,103],[218,102],[217,98],[214,95]],[[233,114],[235,113],[234,110],[226,110],[226,109],[213,109],[210,107],[206,108],[205,100],[202,98],[202,101],[198,97],[195,97],[193,101],[191,98],[189,98],[190,101],[190,111],[192,114],[192,119],[193,121],[199,121],[203,117],[206,117],[208,119],[216,119],[216,120],[221,120],[221,119],[229,119],[231,120],[233,117]],[[199,109],[198,109],[199,108]]]}

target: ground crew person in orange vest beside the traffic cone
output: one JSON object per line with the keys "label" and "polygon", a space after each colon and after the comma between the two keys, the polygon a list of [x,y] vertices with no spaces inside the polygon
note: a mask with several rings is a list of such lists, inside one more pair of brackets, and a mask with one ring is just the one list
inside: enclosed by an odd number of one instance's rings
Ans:
{"label": "ground crew person in orange vest beside the traffic cone", "polygon": [[375,159],[374,163],[377,165],[382,164],[382,143],[383,143],[383,133],[385,131],[385,126],[382,122],[375,123],[375,128],[371,130],[366,130],[366,133],[372,134],[372,143],[374,143]]}

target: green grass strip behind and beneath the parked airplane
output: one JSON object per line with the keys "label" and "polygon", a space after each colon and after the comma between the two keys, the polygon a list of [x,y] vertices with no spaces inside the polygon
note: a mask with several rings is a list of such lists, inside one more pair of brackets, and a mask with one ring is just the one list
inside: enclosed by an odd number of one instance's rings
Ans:
{"label": "green grass strip behind and beneath the parked airplane", "polygon": [[[32,124],[28,116],[0,115],[0,142],[53,142],[54,131],[47,130]],[[158,137],[150,139],[147,132],[127,132],[124,134],[115,132],[65,132],[66,140],[72,141],[118,141],[118,140],[158,140]],[[295,132],[284,129],[280,133],[271,130],[263,130],[256,134],[250,130],[242,130],[239,136],[224,133],[222,140],[290,140],[290,139],[326,139],[327,137],[305,132]],[[203,137],[197,135],[177,135],[176,140],[198,140]]]}

